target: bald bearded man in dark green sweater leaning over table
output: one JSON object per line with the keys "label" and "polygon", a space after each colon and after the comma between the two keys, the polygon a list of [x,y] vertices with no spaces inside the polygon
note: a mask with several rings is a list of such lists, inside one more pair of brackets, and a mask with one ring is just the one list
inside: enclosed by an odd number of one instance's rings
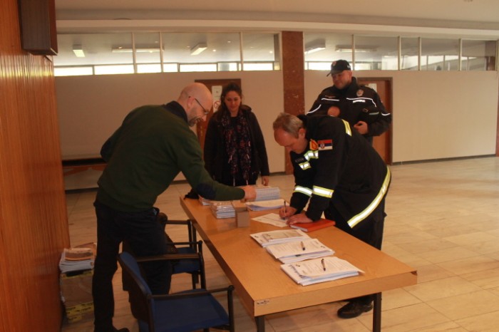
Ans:
{"label": "bald bearded man in dark green sweater leaning over table", "polygon": [[[210,90],[192,83],[176,101],[130,112],[104,143],[101,155],[107,166],[98,180],[94,203],[98,243],[92,284],[95,332],[128,332],[128,328],[113,326],[113,275],[120,243],[126,240],[137,256],[167,252],[153,205],[179,172],[207,199],[256,197],[253,187],[221,185],[205,170],[201,147],[189,127],[206,120],[211,106]],[[153,294],[168,294],[170,263],[153,262],[143,268]]]}

